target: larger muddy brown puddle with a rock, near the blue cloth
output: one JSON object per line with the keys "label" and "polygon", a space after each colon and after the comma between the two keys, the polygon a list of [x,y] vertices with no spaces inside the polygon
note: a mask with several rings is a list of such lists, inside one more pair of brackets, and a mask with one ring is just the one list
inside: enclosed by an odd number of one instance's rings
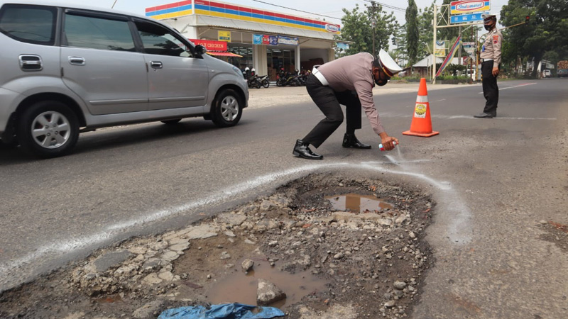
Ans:
{"label": "larger muddy brown puddle with a rock, near the blue cloth", "polygon": [[326,289],[327,281],[317,278],[310,272],[297,272],[290,274],[281,272],[276,267],[271,267],[268,262],[254,261],[254,270],[249,274],[244,274],[240,270],[240,264],[237,263],[239,272],[234,272],[221,279],[212,289],[207,291],[207,301],[213,304],[217,303],[245,303],[247,305],[256,305],[256,288],[258,279],[266,279],[275,284],[278,288],[286,293],[283,301],[271,304],[271,307],[283,308],[299,302],[304,296]]}

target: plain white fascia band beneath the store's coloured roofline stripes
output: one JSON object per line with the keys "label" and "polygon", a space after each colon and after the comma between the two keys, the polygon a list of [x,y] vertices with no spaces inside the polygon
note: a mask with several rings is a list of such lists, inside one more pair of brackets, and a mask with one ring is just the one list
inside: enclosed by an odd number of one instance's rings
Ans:
{"label": "plain white fascia band beneath the store's coloured roofline stripes", "polygon": [[218,18],[215,16],[197,15],[197,23],[195,26],[212,26],[231,28],[236,30],[249,30],[256,33],[274,33],[279,35],[295,35],[298,37],[312,38],[317,40],[334,41],[333,33],[317,32],[312,30],[302,30],[299,28],[290,28],[285,26],[276,26],[267,23],[257,23],[249,21],[240,21],[228,18]]}

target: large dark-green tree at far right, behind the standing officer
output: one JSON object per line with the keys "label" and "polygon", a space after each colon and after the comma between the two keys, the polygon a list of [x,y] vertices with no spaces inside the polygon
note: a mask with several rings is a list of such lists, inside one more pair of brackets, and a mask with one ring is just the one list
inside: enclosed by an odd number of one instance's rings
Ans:
{"label": "large dark-green tree at far right, behind the standing officer", "polygon": [[[516,0],[501,9],[501,24],[513,26],[504,31],[503,62],[516,63],[534,58],[532,77],[537,77],[536,65],[544,58],[568,58],[568,2],[566,0]],[[552,60],[551,59],[551,60]],[[557,61],[552,61],[557,62]]]}

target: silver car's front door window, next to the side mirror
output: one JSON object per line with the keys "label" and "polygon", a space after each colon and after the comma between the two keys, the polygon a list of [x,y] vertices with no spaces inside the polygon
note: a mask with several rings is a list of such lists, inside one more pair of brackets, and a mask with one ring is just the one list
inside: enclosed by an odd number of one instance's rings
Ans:
{"label": "silver car's front door window, next to the side mirror", "polygon": [[151,55],[169,55],[172,57],[193,57],[187,47],[173,32],[156,23],[135,21],[138,34],[144,46],[144,52]]}

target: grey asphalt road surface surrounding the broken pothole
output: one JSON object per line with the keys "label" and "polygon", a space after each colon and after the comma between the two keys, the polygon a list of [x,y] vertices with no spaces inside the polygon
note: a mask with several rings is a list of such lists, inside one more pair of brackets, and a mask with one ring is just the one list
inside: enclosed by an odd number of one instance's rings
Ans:
{"label": "grey asphalt road surface surrounding the broken pothole", "polygon": [[538,222],[568,224],[568,79],[499,86],[493,119],[472,118],[484,105],[481,86],[432,87],[440,132],[432,138],[401,134],[416,91],[379,91],[397,149],[379,152],[364,118],[357,136],[373,149],[342,148],[342,125],[317,150],[322,161],[291,154],[322,118],[313,103],[291,99],[293,88],[266,89],[280,105],[246,109],[234,128],[195,118],[99,130],[81,135],[74,154],[48,160],[1,150],[0,291],[97,247],[342,170],[420,185],[437,202],[427,235],[436,265],[413,318],[565,318],[568,254],[539,239]]}

